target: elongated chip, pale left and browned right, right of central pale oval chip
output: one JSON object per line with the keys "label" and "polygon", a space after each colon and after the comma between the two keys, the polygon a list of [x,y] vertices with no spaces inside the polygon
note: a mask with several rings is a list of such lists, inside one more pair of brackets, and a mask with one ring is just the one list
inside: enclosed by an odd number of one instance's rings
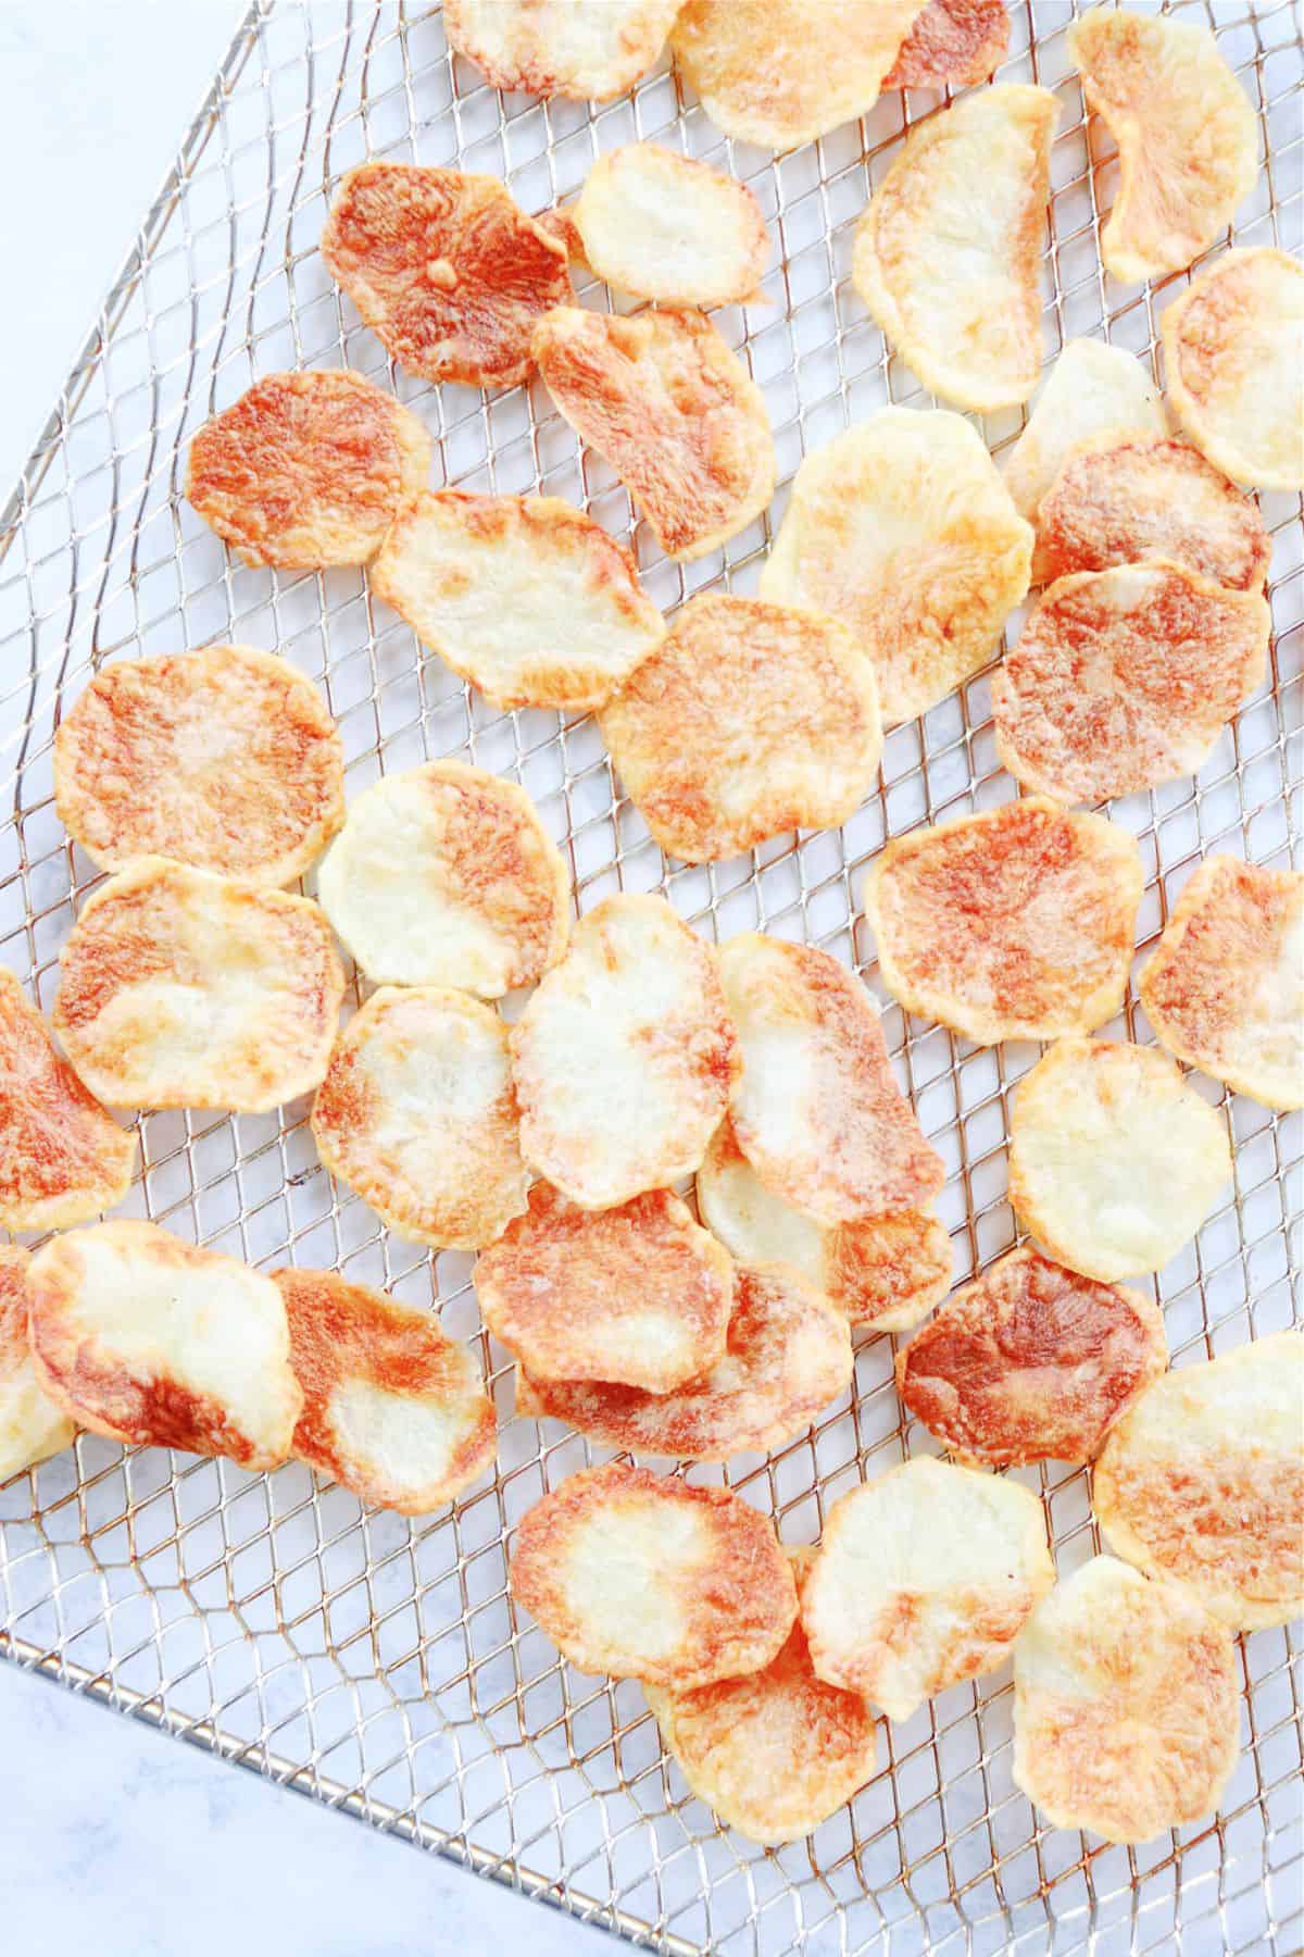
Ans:
{"label": "elongated chip, pale left and browned right, right of central pale oval chip", "polygon": [[895,1084],[878,1008],[827,951],[745,932],[719,953],[743,1074],[737,1145],[819,1223],[917,1209],[946,1180]]}

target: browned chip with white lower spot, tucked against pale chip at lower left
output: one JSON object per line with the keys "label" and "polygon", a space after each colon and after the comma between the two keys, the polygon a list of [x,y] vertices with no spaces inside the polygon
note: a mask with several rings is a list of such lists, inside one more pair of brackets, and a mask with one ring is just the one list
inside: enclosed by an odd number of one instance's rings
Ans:
{"label": "browned chip with white lower spot, tucked against pale chip at lower left", "polygon": [[334,1270],[272,1278],[303,1389],[299,1460],[399,1515],[428,1515],[493,1464],[499,1427],[479,1366],[434,1313]]}

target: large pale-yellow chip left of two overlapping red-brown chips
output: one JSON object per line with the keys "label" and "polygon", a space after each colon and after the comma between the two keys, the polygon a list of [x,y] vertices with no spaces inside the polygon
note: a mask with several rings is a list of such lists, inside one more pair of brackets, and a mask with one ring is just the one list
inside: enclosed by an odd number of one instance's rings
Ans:
{"label": "large pale-yellow chip left of two overlapping red-brown chips", "polygon": [[978,431],[884,407],[802,462],[761,595],[848,626],[893,726],[987,663],[1030,562],[1032,530]]}

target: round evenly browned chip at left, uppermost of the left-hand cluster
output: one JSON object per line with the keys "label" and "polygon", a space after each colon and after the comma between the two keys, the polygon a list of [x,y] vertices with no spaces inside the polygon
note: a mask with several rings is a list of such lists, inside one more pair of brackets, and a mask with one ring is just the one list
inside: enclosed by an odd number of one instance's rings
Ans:
{"label": "round evenly browned chip at left, uppermost of the left-hand cluster", "polygon": [[276,888],[344,820],[344,748],[317,687],[270,652],[115,660],[55,734],[55,808],[100,869],[166,855]]}

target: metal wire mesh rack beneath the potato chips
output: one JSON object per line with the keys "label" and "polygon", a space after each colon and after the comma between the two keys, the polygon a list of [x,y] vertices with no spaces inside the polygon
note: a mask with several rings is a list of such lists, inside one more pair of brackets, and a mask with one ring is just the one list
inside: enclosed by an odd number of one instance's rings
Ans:
{"label": "metal wire mesh rack beneath the potato chips", "polygon": [[[1101,270],[1114,164],[1085,127],[1067,63],[1073,12],[1077,0],[1013,6],[999,74],[1042,82],[1060,102],[1046,352],[1095,335],[1161,374],[1157,317],[1187,276],[1138,292]],[[1298,250],[1304,61],[1292,0],[1179,0],[1173,12],[1210,22],[1261,112],[1263,170],[1236,243]],[[886,96],[864,123],[774,159],[723,141],[665,61],[610,106],[547,104],[481,86],[450,59],[438,10],[250,10],[0,524],[0,955],[47,1010],[59,945],[96,883],[53,808],[63,703],[115,654],[209,640],[274,648],[325,689],[350,793],[381,771],[465,755],[532,793],[569,853],[581,912],[614,888],[663,890],[708,935],[766,930],[854,965],[946,1159],[956,1282],[1009,1249],[1009,1094],[1038,1049],[972,1051],[907,1022],[878,984],[858,914],[860,875],[886,838],[1013,796],[983,675],[890,734],[882,789],[841,832],[671,869],[620,798],[588,720],[493,710],[422,656],[362,573],[244,569],[182,499],[190,436],[213,409],[270,370],[348,364],[428,421],[442,481],[565,495],[630,534],[663,609],[700,589],[755,591],[802,454],[886,401],[927,405],[866,319],[848,266],[868,190],[905,127],[938,102]],[[317,254],[334,180],[368,155],[491,170],[526,209],[543,209],[579,188],[598,151],[631,139],[682,147],[751,184],[778,247],[774,303],[716,317],[764,387],[782,487],[764,521],[690,568],[631,524],[624,489],[581,452],[542,387],[479,395],[393,370]],[[581,299],[614,303],[590,280]],[[993,452],[1022,419],[989,417]],[[1304,550],[1298,499],[1261,503],[1275,540],[1271,681],[1195,781],[1110,810],[1142,847],[1142,947],[1200,855],[1288,859]],[[1134,996],[1107,1031],[1150,1037]],[[1212,1082],[1195,1084],[1220,1100]],[[1175,1364],[1298,1315],[1300,1121],[1222,1100],[1238,1143],[1234,1198],[1155,1280]],[[762,1851],[721,1830],[663,1757],[637,1687],[565,1667],[506,1597],[514,1521],[600,1450],[553,1423],[512,1419],[512,1368],[479,1325],[469,1258],[381,1229],[330,1184],[305,1115],[293,1104],[262,1117],[141,1117],[127,1211],[264,1266],[334,1266],[438,1303],[497,1397],[497,1474],[409,1523],[364,1511],[297,1464],[246,1476],[84,1434],[0,1491],[6,1656],[667,1951],[1298,1945],[1298,1630],[1241,1640],[1245,1750],[1218,1818],[1146,1849],[1038,1824],[1011,1779],[1007,1671],[884,1722],[874,1779],[807,1842]],[[862,1343],[854,1391],[800,1440],[690,1478],[727,1481],[772,1511],[786,1540],[813,1540],[856,1479],[933,1450],[895,1399],[891,1348],[888,1337]],[[1065,1573],[1099,1546],[1089,1476],[1048,1466],[1021,1479],[1044,1497]]]}

